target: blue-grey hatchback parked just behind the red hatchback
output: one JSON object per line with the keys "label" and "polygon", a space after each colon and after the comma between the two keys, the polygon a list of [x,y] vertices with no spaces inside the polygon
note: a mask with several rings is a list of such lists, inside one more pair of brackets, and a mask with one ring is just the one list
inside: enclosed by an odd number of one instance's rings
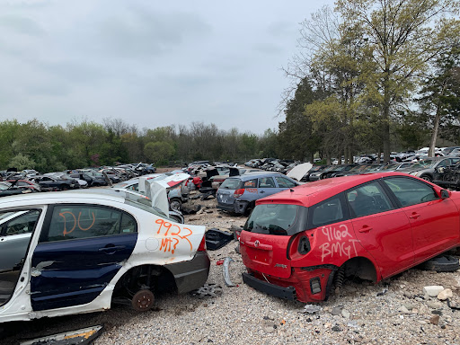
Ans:
{"label": "blue-grey hatchback parked just behind the red hatchback", "polygon": [[299,185],[280,173],[245,173],[228,177],[217,190],[217,208],[233,213],[249,213],[255,201]]}

